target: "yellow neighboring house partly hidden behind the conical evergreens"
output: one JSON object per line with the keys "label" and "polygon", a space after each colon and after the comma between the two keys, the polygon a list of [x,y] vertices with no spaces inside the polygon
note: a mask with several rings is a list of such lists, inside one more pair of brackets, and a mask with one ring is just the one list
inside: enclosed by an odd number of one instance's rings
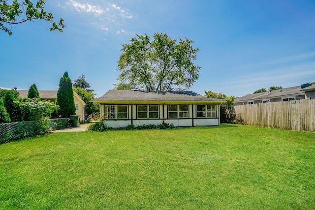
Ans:
{"label": "yellow neighboring house partly hidden behind the conical evergreens", "polygon": [[[27,98],[29,90],[18,90],[20,92],[19,98]],[[57,103],[57,92],[58,90],[38,90],[39,98],[41,100],[49,100],[51,102]],[[80,115],[80,121],[84,121],[85,110],[84,107],[87,105],[82,98],[73,91],[74,105],[75,105],[75,115]]]}

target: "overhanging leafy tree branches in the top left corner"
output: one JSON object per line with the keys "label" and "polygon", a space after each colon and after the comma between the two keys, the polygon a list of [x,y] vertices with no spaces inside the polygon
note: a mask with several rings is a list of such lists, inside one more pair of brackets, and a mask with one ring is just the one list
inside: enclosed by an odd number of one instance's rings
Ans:
{"label": "overhanging leafy tree branches in the top left corner", "polygon": [[17,24],[36,19],[46,20],[51,23],[50,30],[63,31],[65,25],[63,19],[60,18],[59,23],[53,20],[53,15],[46,12],[44,9],[45,0],[38,0],[32,3],[31,0],[13,0],[11,3],[8,0],[0,0],[0,30],[12,34],[12,28]]}

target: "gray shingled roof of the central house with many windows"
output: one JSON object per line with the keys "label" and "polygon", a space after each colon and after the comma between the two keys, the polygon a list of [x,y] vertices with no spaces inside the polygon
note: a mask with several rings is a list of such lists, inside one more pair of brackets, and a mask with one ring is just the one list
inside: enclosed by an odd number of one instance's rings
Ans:
{"label": "gray shingled roof of the central house with many windows", "polygon": [[207,98],[192,91],[135,91],[108,90],[101,97],[92,101],[213,101],[224,102],[222,99]]}

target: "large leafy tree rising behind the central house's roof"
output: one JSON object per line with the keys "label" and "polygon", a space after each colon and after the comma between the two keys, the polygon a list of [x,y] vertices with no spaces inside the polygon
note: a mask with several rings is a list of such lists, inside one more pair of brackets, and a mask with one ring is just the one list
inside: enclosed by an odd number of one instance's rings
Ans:
{"label": "large leafy tree rising behind the central house's roof", "polygon": [[124,44],[118,61],[120,90],[187,90],[201,68],[193,63],[198,48],[188,38],[171,39],[166,33],[138,35]]}

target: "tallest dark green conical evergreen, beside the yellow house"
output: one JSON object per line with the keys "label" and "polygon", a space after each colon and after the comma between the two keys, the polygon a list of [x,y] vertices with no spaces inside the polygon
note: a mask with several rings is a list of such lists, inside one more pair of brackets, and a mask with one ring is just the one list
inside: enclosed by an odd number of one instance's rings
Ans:
{"label": "tallest dark green conical evergreen, beside the yellow house", "polygon": [[69,115],[75,115],[72,82],[68,72],[64,72],[63,77],[60,78],[59,89],[57,92],[57,104],[60,106],[58,113],[62,118],[68,118]]}

